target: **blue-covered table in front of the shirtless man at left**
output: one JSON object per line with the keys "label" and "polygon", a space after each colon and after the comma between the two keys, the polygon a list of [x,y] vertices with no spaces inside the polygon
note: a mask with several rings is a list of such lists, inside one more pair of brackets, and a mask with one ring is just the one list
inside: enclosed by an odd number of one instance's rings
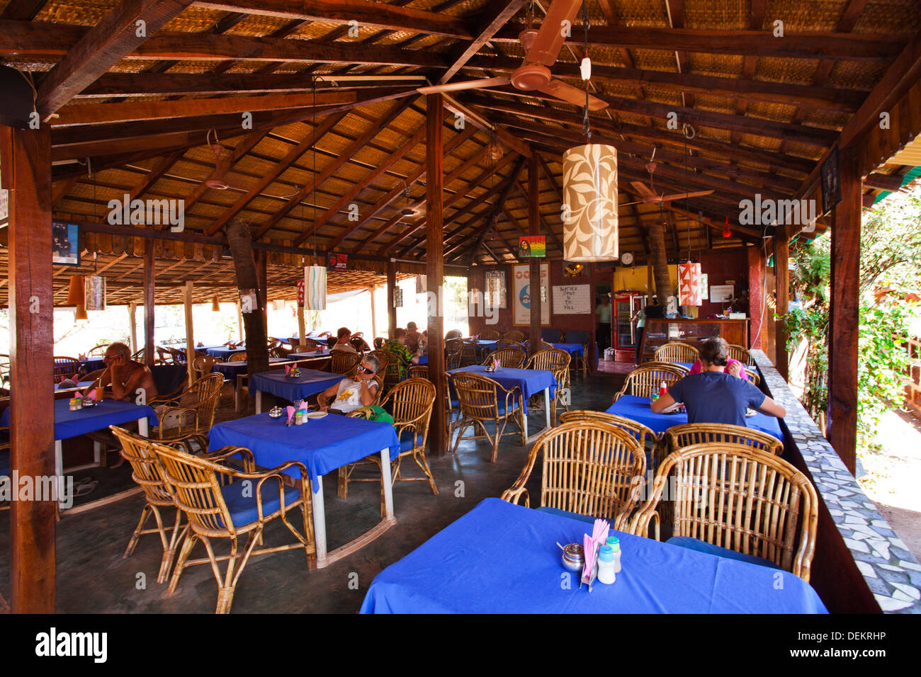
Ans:
{"label": "blue-covered table in front of the shirtless man at left", "polygon": [[[9,427],[11,408],[6,408],[0,415],[0,426]],[[116,400],[103,400],[99,404],[75,412],[70,411],[70,400],[54,401],[54,474],[58,481],[64,478],[64,453],[63,440],[78,438],[87,433],[105,430],[109,426],[121,426],[131,421],[137,421],[138,432],[147,437],[148,423],[157,426],[157,413],[149,404],[135,404],[133,402],[120,402]],[[102,444],[93,441],[93,463],[100,465],[102,459]],[[68,471],[82,470],[91,466],[77,466],[68,468]]]}

